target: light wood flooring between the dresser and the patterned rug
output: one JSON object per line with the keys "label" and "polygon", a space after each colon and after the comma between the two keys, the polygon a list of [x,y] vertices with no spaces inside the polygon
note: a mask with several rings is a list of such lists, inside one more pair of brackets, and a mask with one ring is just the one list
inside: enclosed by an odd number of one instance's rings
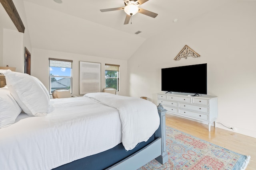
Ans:
{"label": "light wood flooring between the dresser and the patterned rug", "polygon": [[256,170],[256,138],[166,114],[166,125],[234,152],[250,155],[246,170]]}

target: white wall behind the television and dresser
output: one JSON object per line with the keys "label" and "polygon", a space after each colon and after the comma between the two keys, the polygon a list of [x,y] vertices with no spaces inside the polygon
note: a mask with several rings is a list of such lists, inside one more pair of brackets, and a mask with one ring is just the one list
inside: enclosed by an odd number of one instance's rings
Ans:
{"label": "white wall behind the television and dresser", "polygon": [[[256,137],[255,6],[255,1],[233,1],[148,39],[128,60],[130,96],[157,104],[161,68],[207,63],[208,94],[218,96],[217,121]],[[184,45],[201,57],[174,61]]]}

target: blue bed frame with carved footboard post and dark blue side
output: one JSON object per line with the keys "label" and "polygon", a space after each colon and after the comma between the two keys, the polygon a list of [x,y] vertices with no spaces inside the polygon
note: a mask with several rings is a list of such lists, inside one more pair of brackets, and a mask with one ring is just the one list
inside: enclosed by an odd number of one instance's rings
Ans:
{"label": "blue bed frame with carved footboard post and dark blue side", "polygon": [[161,164],[168,161],[166,152],[165,111],[158,111],[160,125],[147,142],[126,151],[120,143],[116,147],[64,164],[54,170],[136,170],[156,159]]}

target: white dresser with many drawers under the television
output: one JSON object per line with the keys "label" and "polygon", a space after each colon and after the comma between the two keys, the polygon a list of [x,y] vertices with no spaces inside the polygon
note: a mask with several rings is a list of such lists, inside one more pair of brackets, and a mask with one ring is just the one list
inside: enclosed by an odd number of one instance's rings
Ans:
{"label": "white dresser with many drawers under the television", "polygon": [[158,104],[164,106],[166,113],[208,123],[209,131],[212,122],[216,127],[218,117],[216,96],[188,96],[188,94],[174,92],[172,94],[158,93],[157,96]]}

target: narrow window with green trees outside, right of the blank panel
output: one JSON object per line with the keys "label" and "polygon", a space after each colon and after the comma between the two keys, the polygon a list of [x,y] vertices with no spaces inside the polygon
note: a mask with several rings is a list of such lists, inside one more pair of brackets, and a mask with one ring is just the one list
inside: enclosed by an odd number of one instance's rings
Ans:
{"label": "narrow window with green trees outside, right of the blank panel", "polygon": [[115,88],[119,91],[119,67],[120,65],[105,64],[106,88]]}

